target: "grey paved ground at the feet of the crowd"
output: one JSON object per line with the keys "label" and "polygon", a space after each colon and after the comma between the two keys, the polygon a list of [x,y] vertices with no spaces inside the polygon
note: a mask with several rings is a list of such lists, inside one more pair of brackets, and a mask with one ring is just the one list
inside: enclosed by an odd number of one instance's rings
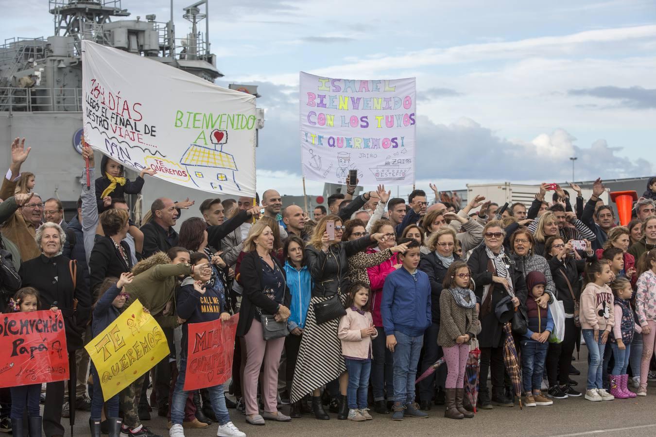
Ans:
{"label": "grey paved ground at the feet of the crowd", "polygon": [[[573,377],[584,387],[586,349],[581,348],[581,361],[575,366],[582,375]],[[230,410],[234,423],[248,436],[302,437],[302,436],[655,436],[656,435],[656,383],[651,383],[648,396],[632,400],[590,402],[583,398],[554,400],[554,405],[537,408],[495,407],[481,410],[474,419],[455,421],[443,417],[442,407],[433,406],[427,419],[405,419],[393,422],[389,415],[373,413],[373,421],[353,423],[331,420],[318,421],[312,416],[293,419],[291,423],[267,421],[264,427],[245,422],[243,415]],[[287,413],[287,407],[283,407]],[[88,436],[88,413],[77,411],[75,436]],[[68,425],[68,419],[62,419]],[[154,416],[145,424],[154,432],[168,436],[166,421]],[[67,435],[68,434],[67,428]],[[187,430],[187,437],[216,436],[216,425],[204,430]]]}

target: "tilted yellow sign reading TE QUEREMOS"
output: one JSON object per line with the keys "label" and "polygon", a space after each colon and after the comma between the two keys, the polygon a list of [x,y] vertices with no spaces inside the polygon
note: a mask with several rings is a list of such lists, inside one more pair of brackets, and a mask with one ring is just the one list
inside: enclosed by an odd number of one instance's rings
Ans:
{"label": "tilted yellow sign reading TE QUEREMOS", "polygon": [[169,355],[169,344],[153,316],[136,299],[86,346],[105,400],[125,389]]}

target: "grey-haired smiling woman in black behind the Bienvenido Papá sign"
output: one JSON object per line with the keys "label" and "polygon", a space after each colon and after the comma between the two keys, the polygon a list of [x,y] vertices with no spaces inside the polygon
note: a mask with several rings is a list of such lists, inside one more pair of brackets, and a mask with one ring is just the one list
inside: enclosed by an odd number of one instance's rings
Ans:
{"label": "grey-haired smiling woman in black behind the Bienvenido Pap\u00e1 sign", "polygon": [[[18,273],[24,287],[39,290],[39,310],[58,307],[62,311],[66,346],[74,352],[83,347],[82,333],[91,311],[89,288],[77,263],[62,255],[66,233],[60,225],[43,223],[35,240],[41,255],[22,263]],[[43,410],[43,432],[47,436],[64,434],[60,423],[63,404],[64,381],[48,383]]]}

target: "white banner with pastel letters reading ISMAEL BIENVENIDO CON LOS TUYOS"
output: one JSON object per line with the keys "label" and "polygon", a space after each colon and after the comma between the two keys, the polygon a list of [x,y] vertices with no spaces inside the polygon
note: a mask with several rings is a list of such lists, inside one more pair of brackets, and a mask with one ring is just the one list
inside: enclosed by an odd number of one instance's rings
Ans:
{"label": "white banner with pastel letters reading ISMAEL BIENVENIDO CON LOS TUYOS", "polygon": [[415,78],[330,79],[300,73],[300,144],[309,180],[415,183]]}

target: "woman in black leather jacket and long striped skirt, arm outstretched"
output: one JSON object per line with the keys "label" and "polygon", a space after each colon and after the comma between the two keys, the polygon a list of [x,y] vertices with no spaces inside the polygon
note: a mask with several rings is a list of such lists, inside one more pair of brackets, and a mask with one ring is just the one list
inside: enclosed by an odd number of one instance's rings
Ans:
{"label": "woman in black leather jacket and long striped skirt, arm outstretched", "polygon": [[[330,240],[326,232],[326,223],[335,222],[335,239]],[[334,295],[343,307],[346,300],[348,281],[348,257],[365,250],[372,242],[382,240],[382,234],[366,235],[357,240],[342,242],[342,219],[331,214],[322,218],[314,228],[314,234],[305,249],[308,269],[314,286],[312,299],[306,319],[303,338],[300,342],[296,371],[291,389],[291,402],[300,400],[312,393],[312,409],[317,419],[330,417],[323,411],[319,389],[321,386],[339,378],[340,406],[338,419],[348,416],[346,403],[346,385],[348,375],[342,357],[342,345],[337,337],[339,318],[317,324],[314,304],[327,301]]]}

